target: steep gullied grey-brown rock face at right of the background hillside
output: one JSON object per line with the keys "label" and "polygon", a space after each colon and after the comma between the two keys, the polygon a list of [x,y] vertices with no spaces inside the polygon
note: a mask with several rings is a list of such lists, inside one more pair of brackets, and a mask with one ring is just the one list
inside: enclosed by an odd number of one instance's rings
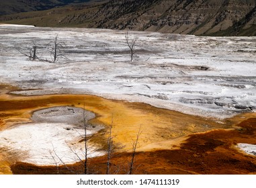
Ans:
{"label": "steep gullied grey-brown rock face at right of the background hillside", "polygon": [[[242,30],[255,26],[255,1],[134,2],[113,4],[112,16],[106,15],[99,26],[196,35],[217,34],[229,28],[232,28],[232,34],[239,34]],[[130,12],[127,9],[120,11],[126,6],[132,7]]]}

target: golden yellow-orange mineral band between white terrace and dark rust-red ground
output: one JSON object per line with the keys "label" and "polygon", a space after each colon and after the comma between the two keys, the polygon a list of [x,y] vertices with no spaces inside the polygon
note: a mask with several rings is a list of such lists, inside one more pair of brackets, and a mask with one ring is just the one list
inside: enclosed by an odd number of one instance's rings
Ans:
{"label": "golden yellow-orange mineral band between white terrace and dark rust-red ground", "polygon": [[[117,152],[129,152],[132,148],[131,140],[136,138],[141,128],[138,151],[169,150],[179,146],[187,136],[210,130],[230,129],[235,124],[255,118],[256,113],[237,115],[227,120],[214,120],[195,115],[187,115],[177,111],[159,109],[144,103],[129,103],[114,101],[93,95],[38,95],[20,96],[8,94],[17,90],[15,87],[0,86],[0,129],[1,131],[31,122],[34,111],[48,107],[73,106],[84,107],[96,114],[91,124],[102,124],[108,129],[112,125],[112,136]],[[105,134],[105,137],[108,136]],[[95,140],[95,142],[100,142]],[[176,148],[177,149],[177,148]],[[10,164],[5,160],[6,154],[0,152],[0,173],[10,174]]]}

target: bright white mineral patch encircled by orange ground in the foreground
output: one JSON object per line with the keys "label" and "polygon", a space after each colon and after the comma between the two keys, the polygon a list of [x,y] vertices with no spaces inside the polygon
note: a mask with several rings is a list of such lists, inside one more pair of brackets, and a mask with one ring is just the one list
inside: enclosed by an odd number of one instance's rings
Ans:
{"label": "bright white mineral patch encircled by orange ground in the foreground", "polygon": [[[0,132],[0,146],[8,148],[6,151],[12,154],[19,152],[15,160],[21,162],[37,165],[73,164],[79,162],[79,158],[85,158],[84,142],[79,142],[83,134],[83,129],[73,128],[71,124],[22,124]],[[87,134],[91,132],[87,131]],[[95,149],[90,147],[87,157],[104,154]]]}

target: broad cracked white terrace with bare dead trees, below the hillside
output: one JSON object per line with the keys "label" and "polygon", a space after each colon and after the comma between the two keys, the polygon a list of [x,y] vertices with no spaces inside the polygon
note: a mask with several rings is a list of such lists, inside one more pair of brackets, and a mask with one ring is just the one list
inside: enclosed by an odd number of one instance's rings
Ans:
{"label": "broad cracked white terrace with bare dead trees, below the hillside", "polygon": [[[30,61],[58,34],[69,59]],[[85,93],[149,103],[183,113],[228,118],[255,111],[255,37],[197,37],[130,32],[137,38],[134,62],[124,31],[0,26],[0,83],[24,95]]]}

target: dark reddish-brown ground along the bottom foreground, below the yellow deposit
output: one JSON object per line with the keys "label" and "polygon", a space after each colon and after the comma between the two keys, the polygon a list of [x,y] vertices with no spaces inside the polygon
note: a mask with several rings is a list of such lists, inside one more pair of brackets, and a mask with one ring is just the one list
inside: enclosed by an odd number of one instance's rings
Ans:
{"label": "dark reddish-brown ground along the bottom foreground, below the yellow deposit", "polygon": [[[256,144],[256,118],[237,125],[235,130],[214,130],[193,134],[176,150],[138,152],[134,174],[256,174],[256,156],[240,152],[237,143]],[[118,153],[112,157],[111,173],[128,173],[130,153]],[[93,167],[93,168],[92,168]],[[79,165],[75,172],[83,171]],[[105,174],[106,156],[89,161],[93,174]],[[11,166],[14,174],[72,174],[66,167],[36,167],[18,162]]]}

